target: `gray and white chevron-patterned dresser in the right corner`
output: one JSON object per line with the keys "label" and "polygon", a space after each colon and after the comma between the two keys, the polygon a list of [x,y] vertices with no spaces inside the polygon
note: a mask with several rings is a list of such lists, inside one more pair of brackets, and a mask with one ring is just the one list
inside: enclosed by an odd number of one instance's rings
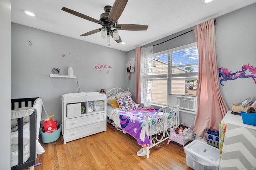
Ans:
{"label": "gray and white chevron-patterned dresser in the right corner", "polygon": [[256,169],[256,126],[244,124],[242,116],[231,111],[221,124],[227,127],[219,169]]}

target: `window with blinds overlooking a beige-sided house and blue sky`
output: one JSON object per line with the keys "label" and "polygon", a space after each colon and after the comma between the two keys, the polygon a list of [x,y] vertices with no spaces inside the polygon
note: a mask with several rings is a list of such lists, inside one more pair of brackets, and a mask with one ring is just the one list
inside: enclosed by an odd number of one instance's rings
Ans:
{"label": "window with blinds overlooking a beige-sided house and blue sky", "polygon": [[[150,58],[148,76],[151,102],[170,105],[177,95],[196,96],[198,83],[198,50],[196,43],[156,53]],[[174,106],[176,106],[174,100]]]}

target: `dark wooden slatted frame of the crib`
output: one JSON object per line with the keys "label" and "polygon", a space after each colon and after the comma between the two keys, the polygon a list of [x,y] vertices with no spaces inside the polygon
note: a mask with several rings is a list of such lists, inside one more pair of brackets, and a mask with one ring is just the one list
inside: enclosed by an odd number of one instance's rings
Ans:
{"label": "dark wooden slatted frame of the crib", "polygon": [[[33,106],[35,98],[11,99],[11,108],[17,109],[21,107]],[[18,104],[18,106],[17,106]],[[11,170],[26,169],[36,164],[36,109],[30,115],[30,157],[29,160],[23,163],[23,118],[19,118],[18,125],[18,165],[12,166]]]}

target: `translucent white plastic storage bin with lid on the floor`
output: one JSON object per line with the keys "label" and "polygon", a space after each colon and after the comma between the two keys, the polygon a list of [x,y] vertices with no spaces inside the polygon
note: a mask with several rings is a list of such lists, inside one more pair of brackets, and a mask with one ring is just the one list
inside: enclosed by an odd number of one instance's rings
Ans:
{"label": "translucent white plastic storage bin with lid on the floor", "polygon": [[199,140],[184,147],[187,165],[194,170],[218,170],[220,150]]}

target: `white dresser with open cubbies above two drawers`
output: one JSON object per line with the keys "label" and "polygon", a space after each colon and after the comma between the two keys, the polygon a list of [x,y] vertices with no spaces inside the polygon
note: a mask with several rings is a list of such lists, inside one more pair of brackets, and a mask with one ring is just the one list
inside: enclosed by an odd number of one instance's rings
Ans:
{"label": "white dresser with open cubbies above two drawers", "polygon": [[[97,103],[97,101],[101,102],[104,108],[90,111],[90,103]],[[81,113],[82,105],[86,107],[85,113]],[[93,92],[62,95],[62,136],[64,144],[103,131],[106,131],[105,94]]]}

